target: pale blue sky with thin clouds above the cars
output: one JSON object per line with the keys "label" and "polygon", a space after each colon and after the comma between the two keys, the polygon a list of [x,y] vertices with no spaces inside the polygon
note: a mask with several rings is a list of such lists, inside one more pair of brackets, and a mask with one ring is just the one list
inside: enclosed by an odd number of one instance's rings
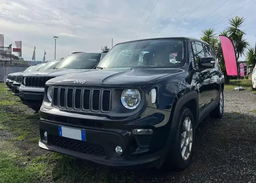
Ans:
{"label": "pale blue sky with thin clouds above the cars", "polygon": [[[217,33],[225,29],[228,26],[226,17],[251,0],[228,0],[211,15],[209,14],[226,0],[185,1],[1,0],[0,34],[4,34],[6,46],[11,43],[15,45],[14,41],[21,40],[22,55],[27,60],[31,59],[34,46],[36,60],[43,59],[44,49],[46,60],[53,60],[53,36],[59,36],[57,59],[71,52],[98,52],[102,46],[111,46],[111,38],[114,45],[150,37],[199,38],[202,29],[214,28]],[[156,2],[155,9],[148,18]],[[199,4],[201,5],[196,9]],[[251,46],[256,41],[255,7],[256,1],[252,1],[229,16],[244,16],[242,29]],[[206,19],[203,20],[204,18]],[[203,21],[199,23],[201,20]],[[214,27],[216,23],[218,24]]]}

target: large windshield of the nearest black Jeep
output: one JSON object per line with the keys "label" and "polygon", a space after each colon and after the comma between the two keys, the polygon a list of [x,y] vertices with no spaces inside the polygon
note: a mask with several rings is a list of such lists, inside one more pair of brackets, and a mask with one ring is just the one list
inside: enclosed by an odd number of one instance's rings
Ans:
{"label": "large windshield of the nearest black Jeep", "polygon": [[186,63],[183,39],[151,39],[114,46],[98,64],[101,68],[178,68]]}

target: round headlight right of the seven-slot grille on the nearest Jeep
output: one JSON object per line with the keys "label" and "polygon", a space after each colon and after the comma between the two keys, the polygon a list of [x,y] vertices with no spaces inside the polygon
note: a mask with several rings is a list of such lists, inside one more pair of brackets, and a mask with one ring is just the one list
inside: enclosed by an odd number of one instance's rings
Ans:
{"label": "round headlight right of the seven-slot grille on the nearest Jeep", "polygon": [[127,109],[135,109],[140,104],[140,91],[137,89],[125,89],[121,94],[121,103]]}

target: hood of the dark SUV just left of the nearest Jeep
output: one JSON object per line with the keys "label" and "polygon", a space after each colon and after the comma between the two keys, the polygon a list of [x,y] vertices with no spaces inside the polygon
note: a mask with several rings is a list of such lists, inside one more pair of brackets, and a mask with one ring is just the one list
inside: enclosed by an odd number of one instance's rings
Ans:
{"label": "hood of the dark SUV just left of the nearest Jeep", "polygon": [[85,72],[90,69],[50,69],[45,71],[30,72],[23,76],[47,76],[47,77],[58,77],[69,73]]}

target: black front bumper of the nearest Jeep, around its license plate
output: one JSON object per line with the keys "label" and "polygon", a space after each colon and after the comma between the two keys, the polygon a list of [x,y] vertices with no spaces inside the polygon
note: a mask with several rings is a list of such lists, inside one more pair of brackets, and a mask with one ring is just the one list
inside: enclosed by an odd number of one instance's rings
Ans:
{"label": "black front bumper of the nearest Jeep, around its license plate", "polygon": [[[84,121],[81,118],[74,118],[74,121],[72,121],[69,118],[69,121],[67,121],[68,117],[58,115],[60,113],[57,111],[56,115],[46,113],[44,107],[41,107],[39,147],[119,168],[161,166],[165,160],[166,151],[170,147],[166,147],[167,137],[169,136],[169,130],[166,129],[169,128],[169,124],[158,128],[151,125],[138,125],[140,121],[140,124],[145,124],[145,120],[148,123],[156,120],[155,114],[147,119],[142,118],[139,121],[130,121],[129,124],[124,124],[116,121],[101,121],[99,117],[98,120],[87,119]],[[72,116],[72,114],[69,114],[69,116]],[[86,115],[86,117],[88,116]],[[92,118],[96,119],[95,117]],[[100,126],[99,122],[97,126],[97,121],[105,124]],[[161,121],[162,119],[158,122]],[[134,125],[134,122],[137,125]],[[59,126],[84,129],[86,131],[86,141],[59,136]],[[153,135],[133,135],[131,131],[136,128],[150,128],[154,132]],[[45,131],[47,132],[47,140],[44,138]],[[116,154],[116,146],[122,147],[122,156]]]}

